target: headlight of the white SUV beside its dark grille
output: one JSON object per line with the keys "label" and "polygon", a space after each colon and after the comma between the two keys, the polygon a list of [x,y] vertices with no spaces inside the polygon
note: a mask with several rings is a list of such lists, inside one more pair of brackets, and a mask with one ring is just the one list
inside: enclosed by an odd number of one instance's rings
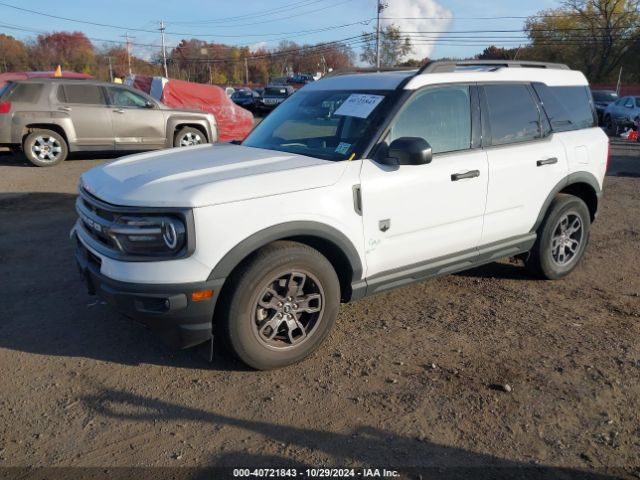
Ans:
{"label": "headlight of the white SUV beside its dark grille", "polygon": [[186,243],[184,222],[169,216],[122,216],[109,235],[123,253],[133,255],[175,255]]}

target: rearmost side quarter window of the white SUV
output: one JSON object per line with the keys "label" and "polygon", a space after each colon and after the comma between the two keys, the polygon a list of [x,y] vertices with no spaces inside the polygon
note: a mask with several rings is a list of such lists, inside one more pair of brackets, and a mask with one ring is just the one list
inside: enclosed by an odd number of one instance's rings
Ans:
{"label": "rearmost side quarter window of the white SUV", "polygon": [[587,87],[533,85],[556,132],[591,128],[597,124],[591,93]]}

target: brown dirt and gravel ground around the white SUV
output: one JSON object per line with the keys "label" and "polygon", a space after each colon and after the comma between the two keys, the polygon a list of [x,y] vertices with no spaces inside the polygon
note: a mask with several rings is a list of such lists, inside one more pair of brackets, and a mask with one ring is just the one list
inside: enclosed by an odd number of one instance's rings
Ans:
{"label": "brown dirt and gravel ground around the white SUV", "polygon": [[0,478],[291,465],[640,478],[640,149],[613,153],[570,277],[506,260],[367,298],[310,359],[272,372],[170,350],[86,294],[68,232],[78,176],[103,158],[43,169],[0,154]]}

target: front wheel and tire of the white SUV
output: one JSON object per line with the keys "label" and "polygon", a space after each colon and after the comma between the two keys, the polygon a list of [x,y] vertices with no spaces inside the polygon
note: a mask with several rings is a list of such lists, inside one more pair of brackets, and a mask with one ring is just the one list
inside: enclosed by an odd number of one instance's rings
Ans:
{"label": "front wheel and tire of the white SUV", "polygon": [[[222,299],[216,326],[229,349],[258,370],[284,367],[309,356],[338,315],[338,277],[331,263],[307,245],[274,242],[252,255],[229,281],[231,290]],[[292,296],[285,293],[292,291],[289,287],[295,288]],[[303,312],[305,302],[308,310],[319,311]],[[306,336],[303,328],[290,325],[306,326]],[[274,338],[268,339],[270,335]]]}

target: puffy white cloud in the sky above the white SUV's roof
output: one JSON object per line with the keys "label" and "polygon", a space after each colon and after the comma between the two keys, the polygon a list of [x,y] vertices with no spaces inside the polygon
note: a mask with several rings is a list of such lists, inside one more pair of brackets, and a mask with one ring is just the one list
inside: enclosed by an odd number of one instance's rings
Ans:
{"label": "puffy white cloud in the sky above the white SUV's roof", "polygon": [[[381,16],[389,19],[384,20],[383,25],[394,24],[400,27],[403,33],[447,31],[453,22],[453,12],[435,0],[387,0],[386,3],[388,7]],[[435,48],[433,43],[440,35],[437,33],[418,35],[423,37],[414,38],[415,35],[411,35],[413,53],[410,57],[418,59],[429,57]],[[431,45],[420,45],[420,43],[431,43]]]}

